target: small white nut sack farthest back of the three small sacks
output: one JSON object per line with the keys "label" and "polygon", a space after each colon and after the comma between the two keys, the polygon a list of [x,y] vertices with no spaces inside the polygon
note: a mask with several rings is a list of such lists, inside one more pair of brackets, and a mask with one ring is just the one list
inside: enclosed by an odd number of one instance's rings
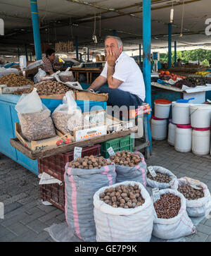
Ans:
{"label": "small white nut sack farthest back of the three small sacks", "polygon": [[156,176],[153,177],[148,169],[146,171],[147,185],[151,188],[171,188],[172,183],[177,180],[177,176],[168,169],[161,166],[152,166],[152,168],[153,171],[155,171]]}

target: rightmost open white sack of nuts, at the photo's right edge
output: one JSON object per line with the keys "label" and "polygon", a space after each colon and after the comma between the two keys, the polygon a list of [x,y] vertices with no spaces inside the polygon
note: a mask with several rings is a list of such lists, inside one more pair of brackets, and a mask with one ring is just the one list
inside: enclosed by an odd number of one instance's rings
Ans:
{"label": "rightmost open white sack of nuts, at the photo's right edge", "polygon": [[178,190],[186,198],[188,216],[201,217],[211,209],[210,191],[204,183],[183,177],[172,184],[172,189]]}

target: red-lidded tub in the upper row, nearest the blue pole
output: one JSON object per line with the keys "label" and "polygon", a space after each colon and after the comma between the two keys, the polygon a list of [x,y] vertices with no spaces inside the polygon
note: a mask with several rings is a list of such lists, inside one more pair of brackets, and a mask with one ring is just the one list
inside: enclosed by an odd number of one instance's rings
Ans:
{"label": "red-lidded tub in the upper row, nearest the blue pole", "polygon": [[155,99],[155,116],[157,118],[169,118],[172,102],[167,99]]}

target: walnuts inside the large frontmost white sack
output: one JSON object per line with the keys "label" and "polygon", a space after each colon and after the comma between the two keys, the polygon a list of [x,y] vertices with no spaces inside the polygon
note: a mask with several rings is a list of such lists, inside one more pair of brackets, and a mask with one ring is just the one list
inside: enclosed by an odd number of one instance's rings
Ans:
{"label": "walnuts inside the large frontmost white sack", "polygon": [[144,204],[139,185],[119,185],[116,188],[107,188],[100,194],[100,200],[106,204],[124,209],[135,208]]}

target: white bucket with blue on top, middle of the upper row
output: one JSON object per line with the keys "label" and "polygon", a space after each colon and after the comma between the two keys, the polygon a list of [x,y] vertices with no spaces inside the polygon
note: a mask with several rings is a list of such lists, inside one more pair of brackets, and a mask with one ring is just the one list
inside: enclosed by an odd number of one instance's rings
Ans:
{"label": "white bucket with blue on top, middle of the upper row", "polygon": [[189,103],[172,102],[172,122],[177,124],[191,123]]}

